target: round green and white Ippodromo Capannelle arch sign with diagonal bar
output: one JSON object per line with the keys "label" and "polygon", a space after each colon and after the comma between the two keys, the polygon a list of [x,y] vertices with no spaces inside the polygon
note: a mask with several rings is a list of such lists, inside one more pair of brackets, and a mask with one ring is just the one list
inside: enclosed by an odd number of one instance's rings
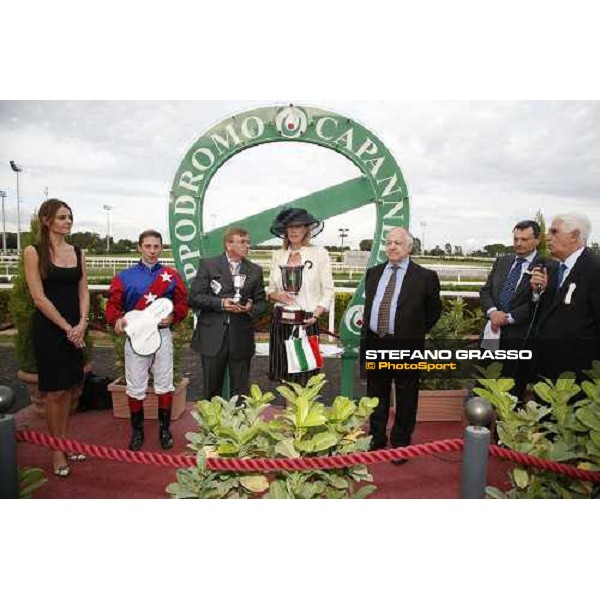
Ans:
{"label": "round green and white Ippodromo Capannelle arch sign with diagonal bar", "polygon": [[[304,142],[330,148],[351,160],[361,176],[206,231],[204,198],[217,170],[232,156],[269,142]],[[345,115],[311,106],[270,106],[236,114],[201,135],[183,158],[171,190],[169,230],[179,271],[190,284],[198,260],[222,252],[226,228],[241,226],[260,244],[273,238],[269,226],[283,208],[306,208],[319,219],[374,203],[377,219],[369,266],[385,260],[384,239],[392,227],[408,227],[409,203],[402,171],[383,142]],[[364,277],[344,314],[345,355],[355,354],[364,306]]]}

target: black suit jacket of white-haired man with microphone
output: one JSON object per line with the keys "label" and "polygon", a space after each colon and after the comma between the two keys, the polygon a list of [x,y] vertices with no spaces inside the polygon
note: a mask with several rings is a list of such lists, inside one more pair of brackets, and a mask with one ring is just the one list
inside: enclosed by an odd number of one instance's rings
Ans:
{"label": "black suit jacket of white-haired man with microphone", "polygon": [[542,296],[537,327],[538,370],[552,379],[565,371],[581,373],[600,360],[600,257],[584,249],[558,294],[557,285],[554,273]]}

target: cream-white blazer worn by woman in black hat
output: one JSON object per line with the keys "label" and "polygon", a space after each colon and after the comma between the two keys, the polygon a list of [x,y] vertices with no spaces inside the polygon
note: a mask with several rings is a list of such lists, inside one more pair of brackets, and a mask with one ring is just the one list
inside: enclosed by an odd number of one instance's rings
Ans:
{"label": "cream-white blazer worn by woman in black hat", "polygon": [[[290,250],[275,250],[271,259],[271,270],[269,274],[268,294],[283,292],[280,266],[287,265]],[[333,300],[333,275],[331,274],[331,260],[329,252],[322,246],[302,246],[300,249],[302,263],[307,260],[312,263],[304,267],[302,273],[302,287],[298,293],[297,302],[303,310],[314,312],[317,306],[329,310]],[[276,302],[277,305],[282,305]]]}

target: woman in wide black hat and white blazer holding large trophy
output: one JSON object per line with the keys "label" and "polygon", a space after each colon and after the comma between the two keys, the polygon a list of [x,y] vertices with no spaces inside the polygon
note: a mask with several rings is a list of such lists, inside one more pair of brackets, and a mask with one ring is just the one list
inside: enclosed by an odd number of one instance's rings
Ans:
{"label": "woman in wide black hat and white blazer holding large trophy", "polygon": [[[271,226],[271,233],[283,239],[283,247],[273,252],[267,292],[269,299],[275,302],[269,341],[271,379],[305,385],[318,373],[318,369],[289,373],[285,340],[298,331],[295,323],[301,323],[307,335],[318,335],[317,320],[329,310],[333,300],[329,253],[310,243],[311,238],[323,231],[323,226],[322,221],[303,208],[282,210]],[[302,284],[298,286],[300,279]],[[293,287],[299,287],[297,293],[286,291]]]}

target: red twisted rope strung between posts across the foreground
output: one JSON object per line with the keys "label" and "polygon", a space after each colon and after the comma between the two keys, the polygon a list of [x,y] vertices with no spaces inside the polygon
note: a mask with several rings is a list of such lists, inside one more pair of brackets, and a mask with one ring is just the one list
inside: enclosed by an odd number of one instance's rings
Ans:
{"label": "red twisted rope strung between posts across the foreground", "polygon": [[[188,468],[196,465],[196,457],[191,454],[165,454],[156,452],[133,452],[110,446],[84,444],[74,440],[54,438],[46,433],[33,429],[21,429],[16,433],[19,442],[45,446],[53,450],[67,453],[81,452],[95,458],[115,460],[126,463],[157,465],[161,467]],[[399,458],[417,458],[443,452],[461,451],[463,440],[438,440],[405,448],[390,448],[374,452],[356,452],[338,456],[313,456],[303,458],[209,458],[206,466],[213,471],[302,471],[305,469],[341,469],[356,465],[373,465]],[[574,479],[600,483],[600,472],[577,469],[571,465],[563,465],[544,460],[528,454],[522,454],[498,446],[490,446],[490,455],[512,462],[567,475]]]}

